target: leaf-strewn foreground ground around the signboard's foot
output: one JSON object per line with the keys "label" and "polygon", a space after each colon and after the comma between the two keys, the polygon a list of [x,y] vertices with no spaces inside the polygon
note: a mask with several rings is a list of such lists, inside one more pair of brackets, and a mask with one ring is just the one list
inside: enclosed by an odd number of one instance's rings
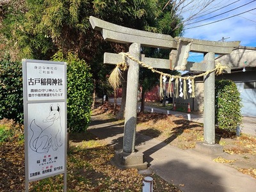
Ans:
{"label": "leaf-strewn foreground ground around the signboard's foot", "polygon": [[[90,133],[71,134],[70,138],[67,191],[142,191],[145,175],[136,169],[119,170],[110,164],[113,147],[102,144]],[[1,143],[0,153],[0,191],[24,191],[24,143]],[[154,191],[180,191],[154,173],[149,176],[154,178]],[[29,183],[29,191],[62,190],[63,175]]]}

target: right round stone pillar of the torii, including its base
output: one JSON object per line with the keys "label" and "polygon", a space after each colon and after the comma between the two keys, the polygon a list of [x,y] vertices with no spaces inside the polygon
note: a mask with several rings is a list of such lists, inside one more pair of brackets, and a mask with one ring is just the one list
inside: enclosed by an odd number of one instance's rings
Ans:
{"label": "right round stone pillar of the torii, including its base", "polygon": [[[215,68],[214,52],[204,56],[207,71]],[[196,143],[196,150],[212,156],[223,154],[223,147],[215,143],[215,73],[204,76],[204,142]]]}

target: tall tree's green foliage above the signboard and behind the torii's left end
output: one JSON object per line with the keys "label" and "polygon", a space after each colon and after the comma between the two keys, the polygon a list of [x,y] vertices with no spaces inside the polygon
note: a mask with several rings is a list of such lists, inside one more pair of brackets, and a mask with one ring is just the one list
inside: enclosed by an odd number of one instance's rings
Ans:
{"label": "tall tree's green foliage above the signboard and behind the torii's left end", "polygon": [[90,65],[96,83],[106,80],[102,75],[103,52],[126,52],[129,46],[104,42],[100,33],[92,30],[90,15],[172,36],[182,31],[182,25],[172,30],[181,18],[172,19],[172,6],[163,9],[166,0],[22,0],[17,6],[19,2],[13,0],[3,6],[0,28],[6,45],[10,45],[10,60],[49,60],[58,50],[64,55],[73,51]]}

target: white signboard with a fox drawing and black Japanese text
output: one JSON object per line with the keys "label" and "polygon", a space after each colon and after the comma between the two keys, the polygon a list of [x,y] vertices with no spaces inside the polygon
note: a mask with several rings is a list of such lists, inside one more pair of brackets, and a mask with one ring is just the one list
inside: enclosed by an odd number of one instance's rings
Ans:
{"label": "white signboard with a fox drawing and black Japanese text", "polygon": [[64,173],[67,190],[67,64],[22,60],[25,176],[28,183]]}

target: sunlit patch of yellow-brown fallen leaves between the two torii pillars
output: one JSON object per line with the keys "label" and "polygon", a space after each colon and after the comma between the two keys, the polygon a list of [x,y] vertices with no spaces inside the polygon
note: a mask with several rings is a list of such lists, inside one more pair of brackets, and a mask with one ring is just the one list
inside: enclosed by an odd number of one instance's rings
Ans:
{"label": "sunlit patch of yellow-brown fallen leaves between the two torii pillars", "polygon": [[137,131],[164,143],[182,149],[195,148],[195,143],[203,141],[203,126],[180,116],[161,113],[139,113]]}

